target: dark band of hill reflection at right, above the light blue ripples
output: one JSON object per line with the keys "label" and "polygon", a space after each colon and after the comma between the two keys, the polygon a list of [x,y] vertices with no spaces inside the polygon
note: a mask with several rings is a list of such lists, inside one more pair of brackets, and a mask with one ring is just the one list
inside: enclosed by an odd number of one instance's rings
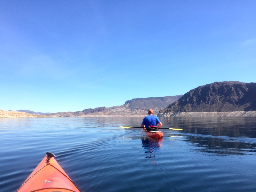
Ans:
{"label": "dark band of hill reflection at right, above the light blue ripples", "polygon": [[256,138],[255,117],[166,117],[161,121],[187,133]]}

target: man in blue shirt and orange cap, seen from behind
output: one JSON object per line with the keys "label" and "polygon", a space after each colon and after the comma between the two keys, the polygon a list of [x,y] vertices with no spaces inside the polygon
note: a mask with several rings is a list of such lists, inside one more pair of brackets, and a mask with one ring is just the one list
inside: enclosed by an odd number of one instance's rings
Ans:
{"label": "man in blue shirt and orange cap, seen from behind", "polygon": [[[157,127],[158,124],[158,127]],[[146,130],[154,130],[154,129],[160,129],[162,126],[162,123],[158,119],[157,116],[153,116],[153,110],[148,110],[148,116],[144,117],[142,124],[140,125],[141,128],[144,128]]]}

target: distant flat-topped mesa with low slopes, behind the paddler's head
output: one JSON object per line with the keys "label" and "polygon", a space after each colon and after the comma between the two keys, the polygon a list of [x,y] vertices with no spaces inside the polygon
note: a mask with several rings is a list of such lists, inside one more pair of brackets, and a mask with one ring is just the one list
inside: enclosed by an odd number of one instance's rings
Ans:
{"label": "distant flat-topped mesa with low slopes, behind the paddler's head", "polygon": [[182,95],[166,97],[149,97],[128,100],[121,106],[88,108],[76,112],[59,112],[46,114],[49,116],[74,117],[74,116],[145,116],[148,109],[153,109],[154,114],[166,108],[169,104],[180,99]]}

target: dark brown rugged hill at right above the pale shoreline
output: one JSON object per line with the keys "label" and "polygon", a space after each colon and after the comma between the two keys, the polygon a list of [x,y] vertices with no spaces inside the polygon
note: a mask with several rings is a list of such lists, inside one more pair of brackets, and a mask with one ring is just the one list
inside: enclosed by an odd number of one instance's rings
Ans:
{"label": "dark brown rugged hill at right above the pale shoreline", "polygon": [[255,111],[255,96],[256,83],[215,82],[190,90],[160,110],[157,116],[171,116],[180,112]]}

